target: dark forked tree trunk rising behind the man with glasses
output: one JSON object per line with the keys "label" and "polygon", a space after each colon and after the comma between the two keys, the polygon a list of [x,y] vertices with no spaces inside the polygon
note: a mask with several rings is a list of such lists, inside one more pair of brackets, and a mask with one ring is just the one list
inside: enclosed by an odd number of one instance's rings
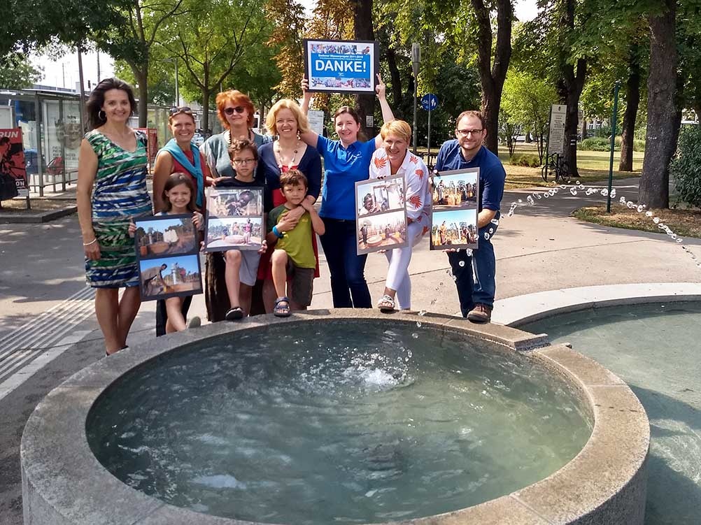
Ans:
{"label": "dark forked tree trunk rising behind the man with glasses", "polygon": [[496,0],[496,47],[494,64],[491,63],[492,31],[490,8],[484,0],[472,0],[477,17],[477,53],[479,83],[482,85],[482,114],[486,123],[484,145],[494,153],[499,151],[499,106],[506,71],[511,59],[511,0]]}

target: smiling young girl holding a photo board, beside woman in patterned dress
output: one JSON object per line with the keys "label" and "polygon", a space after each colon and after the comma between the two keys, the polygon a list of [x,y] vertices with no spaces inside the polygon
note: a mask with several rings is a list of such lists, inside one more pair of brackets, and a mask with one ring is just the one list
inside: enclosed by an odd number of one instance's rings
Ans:
{"label": "smiling young girl holding a photo board, beside woman in patterned dress", "polygon": [[[184,215],[192,214],[192,222],[198,232],[204,228],[202,214],[197,211],[195,205],[196,190],[189,175],[184,173],[170,174],[163,186],[163,211],[156,216],[163,215]],[[136,231],[136,225],[131,222],[129,225],[129,235],[132,237]],[[198,316],[193,316],[189,323],[186,323],[182,313],[183,302],[186,297],[169,297],[165,300],[165,312],[168,321],[165,323],[165,332],[180,332],[185,328],[196,328],[202,321]]]}

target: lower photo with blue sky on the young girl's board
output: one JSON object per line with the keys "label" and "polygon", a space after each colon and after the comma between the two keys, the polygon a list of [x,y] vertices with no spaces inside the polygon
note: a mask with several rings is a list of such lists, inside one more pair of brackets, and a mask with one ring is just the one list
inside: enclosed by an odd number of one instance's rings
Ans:
{"label": "lower photo with blue sky on the young girl's board", "polygon": [[139,260],[139,285],[144,301],[202,293],[197,253]]}

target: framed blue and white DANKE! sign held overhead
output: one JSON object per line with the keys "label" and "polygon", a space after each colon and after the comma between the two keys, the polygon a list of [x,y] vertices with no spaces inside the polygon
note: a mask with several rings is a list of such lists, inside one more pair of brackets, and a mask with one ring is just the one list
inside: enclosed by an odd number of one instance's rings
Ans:
{"label": "framed blue and white DANKE! sign held overhead", "polygon": [[374,93],[378,71],[377,41],[304,39],[304,76],[311,92]]}

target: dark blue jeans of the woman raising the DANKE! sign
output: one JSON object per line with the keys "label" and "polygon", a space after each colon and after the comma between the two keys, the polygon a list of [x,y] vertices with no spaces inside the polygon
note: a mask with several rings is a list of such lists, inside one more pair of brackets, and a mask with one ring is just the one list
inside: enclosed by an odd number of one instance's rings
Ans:
{"label": "dark blue jeans of the woman raising the DANKE! sign", "polygon": [[334,308],[370,308],[370,290],[365,282],[367,255],[358,255],[355,221],[323,218],[326,232],[320,237],[331,272]]}

